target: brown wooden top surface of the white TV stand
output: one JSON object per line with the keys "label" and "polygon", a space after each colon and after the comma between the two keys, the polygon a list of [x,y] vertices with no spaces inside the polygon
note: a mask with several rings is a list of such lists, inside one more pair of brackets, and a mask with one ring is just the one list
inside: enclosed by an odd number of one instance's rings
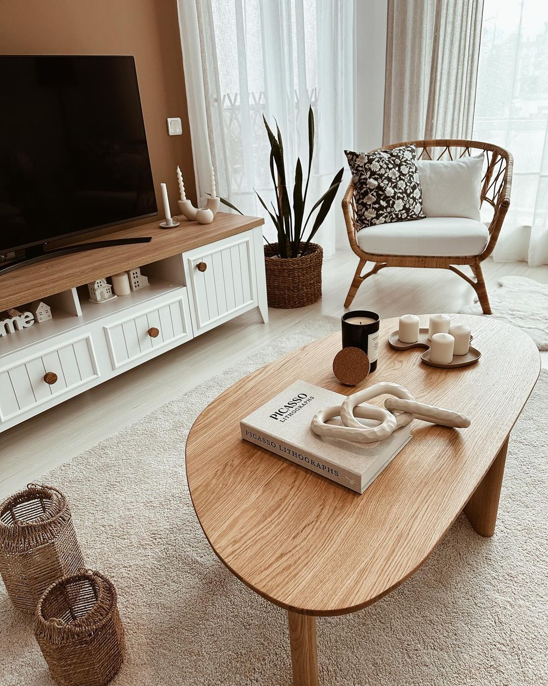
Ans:
{"label": "brown wooden top surface of the white TV stand", "polygon": [[162,229],[157,219],[150,224],[117,230],[79,243],[105,241],[111,238],[151,236],[150,243],[99,248],[73,255],[52,257],[36,264],[0,275],[0,311],[32,300],[44,299],[69,288],[95,281],[104,276],[141,267],[179,252],[219,241],[264,224],[260,217],[217,213],[211,224],[181,222],[172,229]]}

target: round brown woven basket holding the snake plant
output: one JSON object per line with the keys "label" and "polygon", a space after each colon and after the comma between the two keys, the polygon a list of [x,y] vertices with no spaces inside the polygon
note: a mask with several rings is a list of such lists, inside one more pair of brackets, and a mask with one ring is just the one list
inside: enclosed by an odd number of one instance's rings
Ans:
{"label": "round brown woven basket holding the snake plant", "polygon": [[266,294],[269,307],[292,309],[321,298],[323,250],[315,243],[299,244],[300,257],[281,258],[277,243],[264,246]]}

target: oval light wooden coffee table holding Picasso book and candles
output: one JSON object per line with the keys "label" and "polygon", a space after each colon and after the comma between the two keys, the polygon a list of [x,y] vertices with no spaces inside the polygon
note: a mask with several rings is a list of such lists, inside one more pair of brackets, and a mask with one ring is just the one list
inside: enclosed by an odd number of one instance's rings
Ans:
{"label": "oval light wooden coffee table holding Picasso book and candles", "polygon": [[[394,351],[387,338],[398,322],[389,319],[381,324],[379,366],[359,386],[333,376],[334,333],[235,383],[190,430],[186,471],[203,532],[232,573],[288,611],[295,685],[318,683],[316,616],[360,610],[395,589],[463,509],[478,534],[493,535],[508,437],[540,355],[508,324],[451,320],[471,327],[482,351],[477,364],[438,369],[423,364],[420,351]],[[395,381],[417,401],[467,414],[472,424],[457,430],[414,421],[410,444],[358,495],[241,440],[240,419],[297,379],[347,395]]]}

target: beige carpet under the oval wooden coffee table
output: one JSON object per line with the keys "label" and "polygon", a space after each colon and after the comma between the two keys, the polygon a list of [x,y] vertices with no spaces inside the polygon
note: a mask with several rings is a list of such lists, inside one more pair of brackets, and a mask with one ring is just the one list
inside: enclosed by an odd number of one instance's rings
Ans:
{"label": "beige carpet under the oval wooden coffee table", "polygon": [[[227,386],[334,329],[327,318],[304,324],[44,477],[69,495],[88,564],[118,589],[128,656],[117,686],[290,684],[286,614],[238,582],[206,543],[186,488],[184,441]],[[547,416],[543,372],[512,433],[492,539],[460,517],[394,593],[318,620],[323,686],[548,683]],[[0,683],[52,683],[3,589]]]}

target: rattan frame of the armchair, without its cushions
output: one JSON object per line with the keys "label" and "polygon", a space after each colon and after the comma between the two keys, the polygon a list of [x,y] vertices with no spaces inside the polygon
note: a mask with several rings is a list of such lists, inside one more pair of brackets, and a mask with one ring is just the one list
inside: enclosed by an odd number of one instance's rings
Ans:
{"label": "rattan frame of the armchair, without its cushions", "polygon": [[[394,143],[386,145],[381,150],[391,150],[400,145],[415,145],[417,159],[460,159],[464,156],[479,154],[484,151],[486,155],[486,171],[482,178],[481,202],[488,203],[493,208],[493,219],[489,225],[489,239],[481,255],[470,255],[469,257],[432,257],[416,255],[373,255],[364,252],[358,245],[358,225],[356,222],[356,204],[353,198],[354,186],[350,183],[345,197],[343,198],[343,213],[347,226],[350,247],[360,258],[356,274],[352,280],[345,307],[350,307],[358,288],[362,282],[371,274],[375,274],[383,267],[422,267],[450,269],[467,281],[475,290],[479,303],[484,314],[491,314],[489,298],[484,281],[481,263],[489,257],[495,248],[502,222],[510,206],[510,189],[512,187],[512,155],[498,145],[482,143],[480,141],[460,141],[454,139],[437,139],[432,141],[406,141],[405,143]],[[364,228],[363,230],[366,230]],[[373,268],[362,275],[362,270],[367,262],[375,263]],[[466,276],[455,265],[469,265],[474,279]]]}

